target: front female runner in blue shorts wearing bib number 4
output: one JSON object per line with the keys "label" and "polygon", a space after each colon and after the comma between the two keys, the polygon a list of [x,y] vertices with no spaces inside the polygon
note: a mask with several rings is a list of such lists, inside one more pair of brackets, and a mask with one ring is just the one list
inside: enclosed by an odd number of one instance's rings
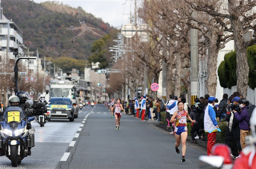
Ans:
{"label": "front female runner in blue shorts wearing bib number 4", "polygon": [[176,152],[179,154],[180,150],[178,149],[178,147],[180,146],[180,140],[182,143],[182,158],[181,158],[181,162],[185,162],[185,153],[186,153],[186,140],[188,137],[188,129],[187,129],[187,118],[195,123],[196,120],[192,120],[189,115],[188,115],[188,111],[184,110],[184,103],[182,101],[178,102],[178,109],[177,111],[175,111],[173,113],[173,116],[170,120],[170,122],[175,122],[175,150]]}

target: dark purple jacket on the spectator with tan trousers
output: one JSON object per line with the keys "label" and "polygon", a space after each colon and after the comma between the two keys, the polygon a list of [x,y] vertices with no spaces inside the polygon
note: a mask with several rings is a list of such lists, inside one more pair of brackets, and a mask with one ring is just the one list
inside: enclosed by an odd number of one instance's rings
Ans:
{"label": "dark purple jacket on the spectator with tan trousers", "polygon": [[234,115],[236,116],[236,119],[239,121],[239,127],[241,130],[250,130],[250,127],[248,126],[247,122],[249,122],[249,114],[248,114],[249,107],[244,106],[242,107],[241,112],[237,112]]}

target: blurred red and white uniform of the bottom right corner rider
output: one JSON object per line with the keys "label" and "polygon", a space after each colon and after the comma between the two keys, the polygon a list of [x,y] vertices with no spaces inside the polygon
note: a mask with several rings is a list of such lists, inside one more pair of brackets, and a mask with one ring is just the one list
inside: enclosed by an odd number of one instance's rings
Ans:
{"label": "blurred red and white uniform of the bottom right corner rider", "polygon": [[246,146],[240,153],[240,158],[235,160],[233,169],[256,169],[255,147]]}

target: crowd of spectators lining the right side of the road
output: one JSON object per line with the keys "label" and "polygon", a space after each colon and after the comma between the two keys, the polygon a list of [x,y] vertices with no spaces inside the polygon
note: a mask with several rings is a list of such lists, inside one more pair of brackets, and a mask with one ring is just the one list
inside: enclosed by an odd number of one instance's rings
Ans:
{"label": "crowd of spectators lining the right side of the road", "polygon": [[[154,99],[144,95],[124,101],[123,107],[124,113],[141,118],[141,121],[157,120],[160,122],[160,112],[166,112],[167,127],[172,127],[170,134],[173,134],[175,125],[170,122],[170,119],[178,110],[177,103],[179,101],[184,103],[184,110],[188,111],[189,117],[196,121],[191,123],[192,140],[190,143],[196,143],[196,139],[205,141],[207,135],[207,154],[210,155],[216,140],[216,133],[220,132],[218,122],[225,121],[227,123],[225,144],[229,146],[233,158],[240,158],[239,152],[246,146],[245,136],[251,134],[249,114],[255,105],[246,100],[239,92],[234,92],[229,97],[228,94],[224,94],[220,101],[206,94],[204,97],[195,98],[192,105],[189,105],[186,98],[182,96],[169,95],[169,99],[165,101],[162,98]],[[111,107],[111,101],[108,105]]]}

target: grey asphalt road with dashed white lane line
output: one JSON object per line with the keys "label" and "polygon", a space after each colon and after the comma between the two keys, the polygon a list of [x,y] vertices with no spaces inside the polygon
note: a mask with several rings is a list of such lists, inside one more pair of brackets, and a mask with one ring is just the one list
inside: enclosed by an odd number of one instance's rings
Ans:
{"label": "grey asphalt road with dashed white lane line", "polygon": [[[56,168],[198,168],[206,149],[187,141],[186,162],[174,149],[175,138],[156,121],[141,121],[122,113],[120,129],[104,105],[86,106],[74,122],[54,119],[44,127],[36,122],[36,146],[18,167]],[[181,147],[180,147],[181,151]],[[11,166],[0,157],[0,169]]]}

